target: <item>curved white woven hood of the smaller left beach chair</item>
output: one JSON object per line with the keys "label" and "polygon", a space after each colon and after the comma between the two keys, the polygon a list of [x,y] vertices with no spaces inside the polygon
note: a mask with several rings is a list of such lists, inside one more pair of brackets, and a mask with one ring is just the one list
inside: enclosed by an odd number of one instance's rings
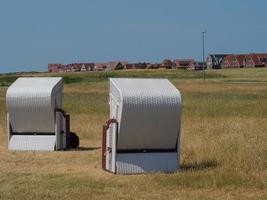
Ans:
{"label": "curved white woven hood of the smaller left beach chair", "polygon": [[55,132],[55,108],[62,104],[62,78],[19,78],[7,90],[12,132]]}

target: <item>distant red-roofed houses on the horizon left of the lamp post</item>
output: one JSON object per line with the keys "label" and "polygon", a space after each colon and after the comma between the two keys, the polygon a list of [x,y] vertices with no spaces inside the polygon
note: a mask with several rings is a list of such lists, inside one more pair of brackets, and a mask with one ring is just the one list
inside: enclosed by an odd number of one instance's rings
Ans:
{"label": "distant red-roofed houses on the horizon left of the lamp post", "polygon": [[203,63],[196,62],[194,59],[165,59],[161,63],[129,63],[127,61],[114,61],[106,63],[72,63],[48,64],[48,72],[78,72],[78,71],[111,71],[128,69],[202,69]]}

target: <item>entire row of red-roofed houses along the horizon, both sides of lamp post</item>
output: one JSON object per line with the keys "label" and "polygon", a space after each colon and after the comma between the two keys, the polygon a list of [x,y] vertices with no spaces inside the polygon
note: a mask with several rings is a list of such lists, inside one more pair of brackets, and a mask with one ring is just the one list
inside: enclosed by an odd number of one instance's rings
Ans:
{"label": "entire row of red-roofed houses along the horizon, both sides of lamp post", "polygon": [[[204,65],[205,64],[205,65]],[[165,59],[161,63],[129,63],[127,61],[114,61],[106,63],[72,63],[48,64],[48,72],[78,72],[78,71],[111,71],[129,69],[208,69],[267,67],[267,53],[250,54],[210,54],[206,63],[194,59]]]}

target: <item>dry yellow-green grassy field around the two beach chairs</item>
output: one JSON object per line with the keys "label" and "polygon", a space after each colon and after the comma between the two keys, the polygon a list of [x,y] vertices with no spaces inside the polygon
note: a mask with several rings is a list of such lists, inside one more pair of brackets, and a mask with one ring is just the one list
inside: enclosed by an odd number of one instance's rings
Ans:
{"label": "dry yellow-green grassy field around the two beach chairs", "polygon": [[[267,199],[267,68],[116,71],[63,76],[64,109],[80,150],[9,152],[0,76],[0,199]],[[108,118],[108,77],[169,78],[181,91],[181,169],[113,175],[101,169],[101,128]]]}

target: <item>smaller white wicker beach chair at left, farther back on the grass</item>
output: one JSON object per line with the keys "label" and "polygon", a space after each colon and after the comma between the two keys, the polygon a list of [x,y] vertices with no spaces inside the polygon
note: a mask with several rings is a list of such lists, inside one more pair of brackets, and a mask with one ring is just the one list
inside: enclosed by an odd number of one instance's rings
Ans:
{"label": "smaller white wicker beach chair at left, farther back on the grass", "polygon": [[18,78],[7,90],[8,149],[62,150],[69,115],[62,108],[62,78]]}

